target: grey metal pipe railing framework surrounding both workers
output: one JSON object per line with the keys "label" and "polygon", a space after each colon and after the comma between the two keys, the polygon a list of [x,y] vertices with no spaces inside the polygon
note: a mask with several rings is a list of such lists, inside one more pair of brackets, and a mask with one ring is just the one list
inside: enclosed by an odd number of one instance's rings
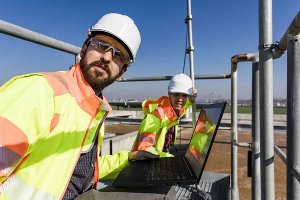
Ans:
{"label": "grey metal pipe railing framework surrounding both workers", "polygon": [[[288,26],[278,44],[272,43],[272,1],[259,0],[259,53],[237,54],[231,57],[230,74],[193,74],[190,0],[187,0],[186,23],[189,27],[191,78],[231,78],[231,198],[238,199],[237,146],[252,149],[252,199],[274,197],[274,151],[286,164],[286,198],[300,198],[300,11]],[[80,60],[80,47],[0,20],[0,32],[75,55]],[[272,49],[274,49],[272,51]],[[286,155],[273,143],[272,59],[287,50],[287,131]],[[252,62],[252,130],[251,143],[237,140],[237,63]],[[169,80],[171,76],[118,78],[117,81]],[[259,84],[260,83],[260,84]],[[259,107],[260,106],[260,107]],[[193,126],[195,119],[193,108]],[[262,134],[260,134],[262,133]]]}

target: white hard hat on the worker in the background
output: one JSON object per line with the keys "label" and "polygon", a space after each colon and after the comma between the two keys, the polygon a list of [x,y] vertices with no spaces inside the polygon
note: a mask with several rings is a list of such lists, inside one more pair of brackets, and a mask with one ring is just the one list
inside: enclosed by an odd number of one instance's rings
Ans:
{"label": "white hard hat on the worker in the background", "polygon": [[168,92],[170,93],[185,93],[192,95],[192,91],[191,79],[184,73],[174,75],[168,85]]}

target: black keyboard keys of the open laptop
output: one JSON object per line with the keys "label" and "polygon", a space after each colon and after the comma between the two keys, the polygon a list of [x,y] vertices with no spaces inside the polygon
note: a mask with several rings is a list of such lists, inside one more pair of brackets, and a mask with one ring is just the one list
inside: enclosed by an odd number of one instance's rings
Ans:
{"label": "black keyboard keys of the open laptop", "polygon": [[185,175],[179,161],[179,157],[162,157],[153,159],[147,181],[184,179]]}

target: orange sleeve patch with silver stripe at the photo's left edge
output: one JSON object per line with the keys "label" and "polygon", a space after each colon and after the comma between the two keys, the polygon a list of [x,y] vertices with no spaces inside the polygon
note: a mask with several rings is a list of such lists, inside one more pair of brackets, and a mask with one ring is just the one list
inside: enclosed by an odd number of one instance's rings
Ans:
{"label": "orange sleeve patch with silver stripe at the photo's left edge", "polygon": [[16,167],[28,148],[25,133],[7,118],[0,116],[0,176],[5,177]]}

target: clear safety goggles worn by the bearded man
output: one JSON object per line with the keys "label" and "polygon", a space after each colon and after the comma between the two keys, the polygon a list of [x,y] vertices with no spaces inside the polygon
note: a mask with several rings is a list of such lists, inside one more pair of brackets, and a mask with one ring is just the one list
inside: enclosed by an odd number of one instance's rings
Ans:
{"label": "clear safety goggles worn by the bearded man", "polygon": [[119,49],[112,47],[109,43],[101,41],[95,37],[89,39],[90,44],[97,49],[98,52],[104,53],[109,49],[112,49],[112,60],[114,62],[120,62],[122,64],[128,64],[130,59],[125,56]]}

